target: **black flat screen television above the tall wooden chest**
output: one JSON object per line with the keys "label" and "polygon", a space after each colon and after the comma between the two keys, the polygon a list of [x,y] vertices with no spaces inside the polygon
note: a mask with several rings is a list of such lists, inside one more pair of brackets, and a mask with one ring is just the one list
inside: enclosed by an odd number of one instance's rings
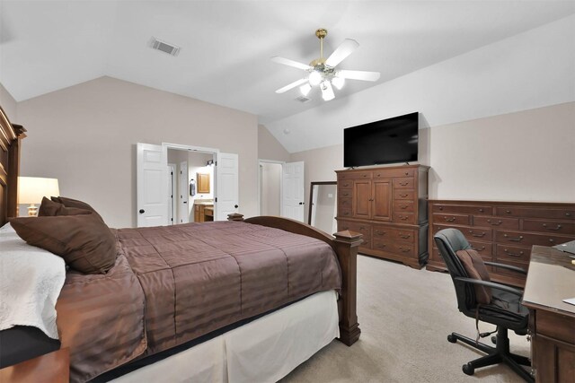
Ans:
{"label": "black flat screen television above the tall wooden chest", "polygon": [[343,167],[417,161],[419,113],[343,129]]}

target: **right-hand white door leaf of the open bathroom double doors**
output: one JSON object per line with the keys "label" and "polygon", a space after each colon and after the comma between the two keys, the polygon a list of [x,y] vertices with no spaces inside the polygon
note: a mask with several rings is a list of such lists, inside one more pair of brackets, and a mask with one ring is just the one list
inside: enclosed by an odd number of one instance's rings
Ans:
{"label": "right-hand white door leaf of the open bathroom double doors", "polygon": [[238,213],[240,202],[237,154],[218,152],[216,164],[214,219],[226,221],[227,214]]}

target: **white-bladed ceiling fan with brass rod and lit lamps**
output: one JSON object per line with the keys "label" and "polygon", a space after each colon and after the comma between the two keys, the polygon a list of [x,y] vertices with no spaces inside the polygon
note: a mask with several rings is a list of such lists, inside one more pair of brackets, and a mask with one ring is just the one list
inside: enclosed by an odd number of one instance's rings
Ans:
{"label": "white-bladed ceiling fan with brass rod and lit lamps", "polygon": [[340,90],[346,79],[372,82],[379,79],[379,72],[349,71],[335,68],[359,47],[358,41],[354,39],[344,39],[340,46],[333,51],[332,55],[325,58],[323,57],[323,39],[327,36],[327,30],[323,28],[315,30],[315,36],[320,39],[320,57],[314,59],[309,65],[298,63],[297,61],[284,57],[271,57],[271,61],[274,63],[294,66],[307,72],[304,78],[290,83],[283,88],[279,88],[276,93],[283,93],[301,85],[299,90],[304,96],[307,96],[309,91],[312,90],[312,87],[319,86],[322,91],[323,100],[329,101],[335,98],[332,85]]}

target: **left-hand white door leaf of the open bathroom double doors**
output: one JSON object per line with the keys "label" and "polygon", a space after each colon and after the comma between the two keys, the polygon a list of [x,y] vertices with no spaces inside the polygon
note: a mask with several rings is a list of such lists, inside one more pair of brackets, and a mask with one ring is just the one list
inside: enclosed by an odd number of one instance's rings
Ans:
{"label": "left-hand white door leaf of the open bathroom double doors", "polygon": [[168,151],[161,145],[137,143],[137,226],[168,224]]}

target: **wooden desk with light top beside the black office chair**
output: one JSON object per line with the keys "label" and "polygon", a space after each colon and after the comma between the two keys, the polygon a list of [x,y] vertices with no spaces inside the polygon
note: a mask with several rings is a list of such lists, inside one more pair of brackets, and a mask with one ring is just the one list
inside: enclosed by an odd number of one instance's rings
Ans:
{"label": "wooden desk with light top beside the black office chair", "polygon": [[575,382],[575,265],[567,253],[534,246],[523,305],[529,309],[535,381]]}

